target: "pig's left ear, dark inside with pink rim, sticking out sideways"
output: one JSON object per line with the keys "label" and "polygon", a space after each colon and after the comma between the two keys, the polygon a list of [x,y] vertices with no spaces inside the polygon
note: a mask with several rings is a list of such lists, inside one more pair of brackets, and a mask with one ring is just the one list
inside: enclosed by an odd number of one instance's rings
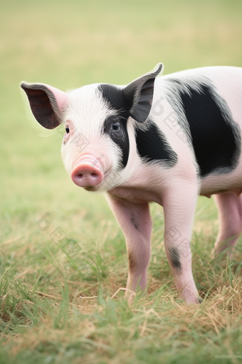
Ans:
{"label": "pig's left ear, dark inside with pink rim, sticking out sideways", "polygon": [[56,128],[62,121],[63,110],[67,103],[67,94],[46,84],[28,84],[21,82],[26,92],[33,116],[46,129]]}

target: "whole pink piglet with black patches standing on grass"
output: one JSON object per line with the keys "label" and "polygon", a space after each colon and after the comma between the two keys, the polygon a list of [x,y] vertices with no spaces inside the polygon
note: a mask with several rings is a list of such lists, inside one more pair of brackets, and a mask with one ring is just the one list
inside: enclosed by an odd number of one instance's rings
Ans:
{"label": "whole pink piglet with black patches standing on grass", "polygon": [[[87,191],[105,193],[125,235],[129,259],[127,288],[135,291],[147,287],[152,234],[149,202],[156,202],[164,208],[164,248],[177,290],[186,303],[199,303],[189,244],[198,196],[214,195],[219,209],[220,229],[213,255],[228,248],[231,253],[242,231],[242,69],[204,67],[156,79],[160,71],[162,64],[127,86],[93,84],[68,93],[44,84],[23,82],[21,87],[41,125],[53,128],[65,123],[62,157],[73,182]],[[195,139],[199,142],[199,136],[192,136],[191,116],[189,110],[185,113],[182,101],[186,93],[186,102],[189,104],[191,96],[195,102],[197,95],[205,92],[201,91],[203,87],[209,88],[206,96],[215,106],[201,100],[199,113],[208,108],[206,115],[211,120],[214,117],[214,123],[219,113],[224,122],[211,129],[214,143],[219,146],[219,138],[231,133],[230,144],[224,143],[224,148],[234,151],[228,166],[222,165],[226,163],[223,146],[216,157],[214,151],[211,161],[218,161],[218,167],[204,174],[202,163],[206,170],[206,160],[202,160],[201,153],[196,154]],[[113,103],[117,103],[116,108]],[[195,125],[196,118],[193,122]],[[204,120],[199,122],[204,138],[201,149],[206,153],[211,138],[207,130],[211,125]],[[145,139],[152,127],[159,134],[155,138],[163,138],[160,148],[164,157],[157,151],[157,160],[142,156],[142,148],[147,151],[146,143],[151,149],[155,143]],[[83,149],[81,141],[87,143]]]}

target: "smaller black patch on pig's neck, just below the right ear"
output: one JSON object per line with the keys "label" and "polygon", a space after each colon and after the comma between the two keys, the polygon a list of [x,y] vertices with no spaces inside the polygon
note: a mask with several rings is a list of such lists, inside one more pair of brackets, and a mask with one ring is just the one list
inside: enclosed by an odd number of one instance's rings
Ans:
{"label": "smaller black patch on pig's neck, just below the right ear", "polygon": [[162,161],[168,167],[177,163],[177,153],[154,123],[150,123],[147,130],[136,128],[136,144],[137,151],[145,162]]}

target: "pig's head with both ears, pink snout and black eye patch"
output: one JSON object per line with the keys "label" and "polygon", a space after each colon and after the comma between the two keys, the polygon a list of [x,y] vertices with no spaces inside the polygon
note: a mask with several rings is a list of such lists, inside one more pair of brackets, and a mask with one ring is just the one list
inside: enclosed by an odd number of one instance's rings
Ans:
{"label": "pig's head with both ears, pink snout and black eye patch", "polygon": [[128,123],[144,123],[162,64],[127,86],[92,84],[63,92],[21,83],[33,116],[44,128],[65,124],[61,153],[73,182],[88,191],[118,186],[130,154]]}

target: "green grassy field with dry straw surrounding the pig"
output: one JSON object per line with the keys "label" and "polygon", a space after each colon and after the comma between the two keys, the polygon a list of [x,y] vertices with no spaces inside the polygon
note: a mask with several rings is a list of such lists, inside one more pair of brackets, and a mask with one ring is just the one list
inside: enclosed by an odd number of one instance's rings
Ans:
{"label": "green grassy field with dry straw surrounding the pig", "polygon": [[242,244],[233,262],[210,258],[213,199],[199,198],[192,238],[201,305],[177,297],[156,205],[148,295],[112,298],[127,278],[122,233],[101,195],[70,182],[60,133],[28,122],[19,92],[22,80],[125,84],[158,61],[165,74],[241,66],[241,15],[239,0],[1,4],[0,363],[241,362]]}

